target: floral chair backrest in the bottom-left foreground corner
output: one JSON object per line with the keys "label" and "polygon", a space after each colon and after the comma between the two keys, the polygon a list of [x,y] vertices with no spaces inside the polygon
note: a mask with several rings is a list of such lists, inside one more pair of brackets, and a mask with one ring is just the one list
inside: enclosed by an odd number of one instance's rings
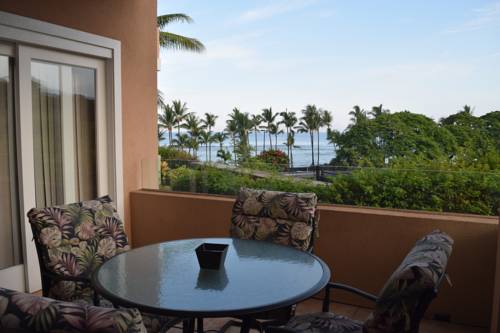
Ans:
{"label": "floral chair backrest in the bottom-left foreground corner", "polygon": [[135,309],[101,308],[0,288],[0,331],[145,333]]}

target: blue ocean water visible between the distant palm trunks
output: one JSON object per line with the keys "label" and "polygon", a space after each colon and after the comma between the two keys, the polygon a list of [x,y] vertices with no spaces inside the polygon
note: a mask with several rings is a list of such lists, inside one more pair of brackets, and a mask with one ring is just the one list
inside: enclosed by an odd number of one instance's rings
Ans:
{"label": "blue ocean water visible between the distant palm trunks", "polygon": [[[263,136],[262,132],[257,135],[257,152],[261,152],[263,150]],[[175,137],[175,132],[174,132]],[[274,136],[272,137],[273,147],[274,147]],[[232,153],[233,147],[230,142],[231,140],[226,140],[224,147],[229,152]],[[287,152],[286,146],[284,143],[286,142],[286,134],[278,135],[278,149]],[[308,133],[296,133],[295,134],[295,148],[293,149],[293,165],[296,167],[305,167],[311,165],[311,139]],[[317,160],[317,147],[316,147],[316,135],[314,137],[314,160],[316,163]],[[161,145],[167,145],[168,139],[162,140],[160,142]],[[250,145],[255,147],[255,136],[254,134],[250,135]],[[266,149],[269,148],[269,136],[266,135]],[[216,143],[212,144],[212,161],[217,161],[217,150],[219,149],[219,145]],[[252,152],[252,156],[255,154],[255,151]],[[332,158],[335,157],[335,151],[331,144],[328,144],[326,139],[326,133],[319,133],[319,162],[320,164],[329,163]],[[198,159],[200,161],[206,160],[205,154],[205,146],[200,146],[198,150]]]}

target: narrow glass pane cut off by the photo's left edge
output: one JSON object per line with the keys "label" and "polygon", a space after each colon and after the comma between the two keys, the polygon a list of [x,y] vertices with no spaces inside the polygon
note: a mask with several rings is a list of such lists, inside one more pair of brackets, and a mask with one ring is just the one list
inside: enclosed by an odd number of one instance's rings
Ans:
{"label": "narrow glass pane cut off by the photo's left edge", "polygon": [[0,56],[0,269],[22,263],[12,73],[12,60]]}

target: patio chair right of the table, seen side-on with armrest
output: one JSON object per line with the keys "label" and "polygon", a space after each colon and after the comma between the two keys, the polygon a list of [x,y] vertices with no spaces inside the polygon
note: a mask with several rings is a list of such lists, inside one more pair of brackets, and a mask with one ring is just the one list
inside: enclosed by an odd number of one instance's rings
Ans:
{"label": "patio chair right of the table, seen side-on with armrest", "polygon": [[[416,333],[424,313],[437,296],[446,275],[453,240],[434,231],[419,240],[389,278],[377,297],[351,286],[330,283],[325,289],[323,312],[292,318],[267,333]],[[329,312],[331,289],[341,289],[375,302],[364,322]]]}

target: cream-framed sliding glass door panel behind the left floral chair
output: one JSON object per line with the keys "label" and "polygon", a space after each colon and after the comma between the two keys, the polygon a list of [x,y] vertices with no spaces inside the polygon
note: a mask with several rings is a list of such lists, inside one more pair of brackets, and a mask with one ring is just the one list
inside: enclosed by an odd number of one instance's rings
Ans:
{"label": "cream-framed sliding glass door panel behind the left floral chair", "polygon": [[[103,60],[18,46],[18,151],[26,212],[110,193]],[[112,162],[111,162],[112,163]],[[25,232],[30,290],[39,284],[31,233]]]}

